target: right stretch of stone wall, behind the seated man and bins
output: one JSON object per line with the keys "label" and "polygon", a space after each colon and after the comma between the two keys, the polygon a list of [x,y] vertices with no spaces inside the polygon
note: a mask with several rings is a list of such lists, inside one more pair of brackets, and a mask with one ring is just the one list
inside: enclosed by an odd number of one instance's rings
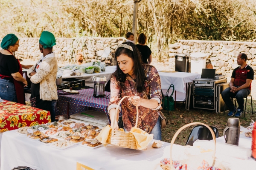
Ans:
{"label": "right stretch of stone wall, behind the seated man and bins", "polygon": [[178,40],[169,45],[169,60],[172,69],[175,69],[174,56],[176,53],[207,54],[207,62],[211,62],[216,73],[231,77],[234,68],[238,67],[236,57],[239,53],[247,54],[247,63],[256,74],[256,42],[239,41],[202,41],[202,40]]}

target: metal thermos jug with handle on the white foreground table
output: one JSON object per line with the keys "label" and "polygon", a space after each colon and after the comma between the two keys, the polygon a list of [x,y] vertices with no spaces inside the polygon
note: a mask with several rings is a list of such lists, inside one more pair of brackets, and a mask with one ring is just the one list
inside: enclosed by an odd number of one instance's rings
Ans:
{"label": "metal thermos jug with handle on the white foreground table", "polygon": [[223,136],[227,144],[239,145],[240,121],[238,118],[227,120],[227,127],[223,131]]}

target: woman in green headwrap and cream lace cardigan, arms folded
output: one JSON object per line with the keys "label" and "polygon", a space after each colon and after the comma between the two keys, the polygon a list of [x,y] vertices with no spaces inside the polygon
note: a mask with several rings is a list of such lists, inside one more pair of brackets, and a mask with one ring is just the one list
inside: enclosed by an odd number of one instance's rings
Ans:
{"label": "woman in green headwrap and cream lace cardigan, arms folded", "polygon": [[48,31],[43,31],[39,40],[39,49],[43,55],[38,62],[27,71],[31,80],[31,106],[50,111],[52,122],[55,121],[54,107],[58,95],[56,76],[58,71],[57,59],[52,51],[56,45],[55,37]]}

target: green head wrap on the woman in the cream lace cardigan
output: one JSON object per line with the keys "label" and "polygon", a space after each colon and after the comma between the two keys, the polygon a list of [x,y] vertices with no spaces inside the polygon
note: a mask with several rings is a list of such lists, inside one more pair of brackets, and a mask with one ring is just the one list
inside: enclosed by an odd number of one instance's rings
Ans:
{"label": "green head wrap on the woman in the cream lace cardigan", "polygon": [[53,45],[56,45],[56,40],[54,35],[51,32],[43,31],[39,40],[39,43],[43,45],[44,49],[52,48]]}

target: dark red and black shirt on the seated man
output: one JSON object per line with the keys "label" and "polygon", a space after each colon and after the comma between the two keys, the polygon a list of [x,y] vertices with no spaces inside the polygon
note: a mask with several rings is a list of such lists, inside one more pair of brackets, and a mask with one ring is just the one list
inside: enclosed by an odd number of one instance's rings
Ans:
{"label": "dark red and black shirt on the seated man", "polygon": [[[241,66],[234,69],[231,78],[234,78],[234,85],[241,86],[246,83],[246,79],[253,80],[254,71],[249,65],[246,65],[244,68],[241,69]],[[251,90],[251,84],[248,89]]]}

